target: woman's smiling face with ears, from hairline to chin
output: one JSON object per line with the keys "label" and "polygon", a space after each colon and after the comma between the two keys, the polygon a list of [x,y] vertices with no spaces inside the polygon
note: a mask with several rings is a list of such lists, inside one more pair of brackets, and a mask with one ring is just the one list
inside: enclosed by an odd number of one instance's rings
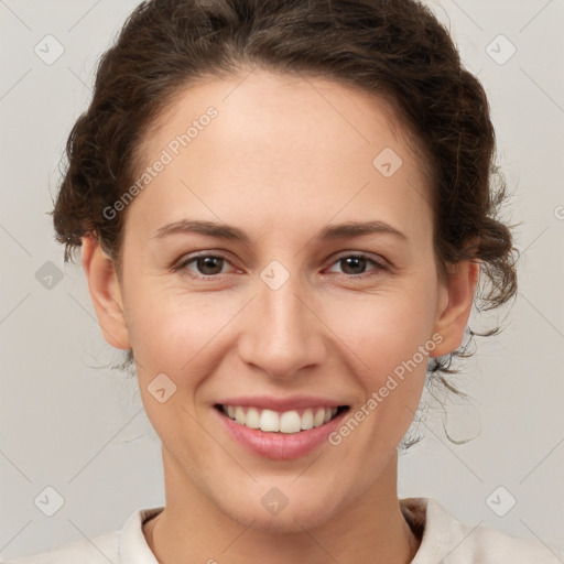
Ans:
{"label": "woman's smiling face with ears, from hairline to chin", "polygon": [[108,340],[133,349],[171,482],[294,530],[395,486],[475,272],[438,278],[429,186],[382,101],[245,76],[181,93],[151,130],[143,170],[166,162],[127,206],[122,280],[104,303],[93,269],[90,289]]}

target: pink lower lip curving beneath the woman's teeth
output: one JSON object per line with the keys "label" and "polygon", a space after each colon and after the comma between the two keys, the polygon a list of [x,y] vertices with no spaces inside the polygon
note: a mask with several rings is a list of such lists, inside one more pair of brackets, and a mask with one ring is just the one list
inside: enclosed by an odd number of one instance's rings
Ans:
{"label": "pink lower lip curving beneath the woman's teeth", "polygon": [[337,430],[348,410],[343,411],[329,422],[318,427],[299,433],[265,433],[260,429],[250,429],[236,423],[225,413],[213,408],[227,432],[250,452],[273,460],[291,460],[312,453],[327,441]]}

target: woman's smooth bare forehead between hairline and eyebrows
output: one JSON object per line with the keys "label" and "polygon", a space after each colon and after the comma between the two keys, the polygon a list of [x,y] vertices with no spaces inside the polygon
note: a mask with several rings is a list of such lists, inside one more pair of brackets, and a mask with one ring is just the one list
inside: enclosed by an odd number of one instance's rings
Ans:
{"label": "woman's smooth bare forehead between hairline and eyebrows", "polygon": [[132,221],[154,231],[197,215],[264,234],[380,214],[416,228],[429,198],[406,134],[384,101],[339,83],[257,69],[209,78],[178,91],[145,132],[140,175],[167,162]]}

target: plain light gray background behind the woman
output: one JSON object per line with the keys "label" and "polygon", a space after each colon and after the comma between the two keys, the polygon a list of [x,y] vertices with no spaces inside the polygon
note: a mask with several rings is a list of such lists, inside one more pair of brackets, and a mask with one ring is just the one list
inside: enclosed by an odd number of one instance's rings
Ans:
{"label": "plain light gray background behind the woman", "polygon": [[[121,352],[102,339],[82,269],[63,265],[46,215],[97,58],[137,3],[0,0],[4,558],[121,528],[133,510],[164,501],[160,444],[137,381],[93,368],[119,360]],[[422,424],[425,440],[400,458],[399,494],[434,497],[468,524],[564,545],[564,3],[430,6],[449,22],[466,65],[488,91],[499,162],[514,189],[506,217],[522,223],[522,257],[506,330],[478,339],[478,354],[458,377],[471,404],[447,398],[446,414],[431,405]],[[47,34],[64,47],[52,64],[34,52],[37,44],[46,51]],[[511,44],[517,52],[505,61]],[[482,316],[470,326],[496,321],[502,319]],[[449,443],[445,416],[453,437],[476,438]],[[46,487],[64,499],[52,517],[34,502],[45,499]],[[517,502],[507,511],[512,498]],[[491,508],[507,512],[500,517]]]}

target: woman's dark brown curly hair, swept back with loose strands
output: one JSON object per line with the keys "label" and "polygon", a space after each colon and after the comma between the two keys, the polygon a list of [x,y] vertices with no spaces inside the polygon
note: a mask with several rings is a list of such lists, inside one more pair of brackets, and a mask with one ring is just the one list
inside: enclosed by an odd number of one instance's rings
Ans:
{"label": "woman's dark brown curly hair, swept back with loose strands", "polygon": [[[141,2],[101,56],[91,102],[67,140],[52,213],[65,262],[91,234],[120,273],[123,213],[109,219],[104,209],[135,178],[147,132],[191,84],[252,67],[321,76],[389,102],[430,173],[441,272],[479,261],[478,311],[516,295],[518,251],[498,217],[507,186],[486,93],[445,26],[414,0]],[[470,340],[498,330],[467,328]],[[429,380],[466,395],[443,375],[459,371],[452,361],[470,356],[468,344],[430,360]],[[120,368],[132,361],[129,349]]]}

